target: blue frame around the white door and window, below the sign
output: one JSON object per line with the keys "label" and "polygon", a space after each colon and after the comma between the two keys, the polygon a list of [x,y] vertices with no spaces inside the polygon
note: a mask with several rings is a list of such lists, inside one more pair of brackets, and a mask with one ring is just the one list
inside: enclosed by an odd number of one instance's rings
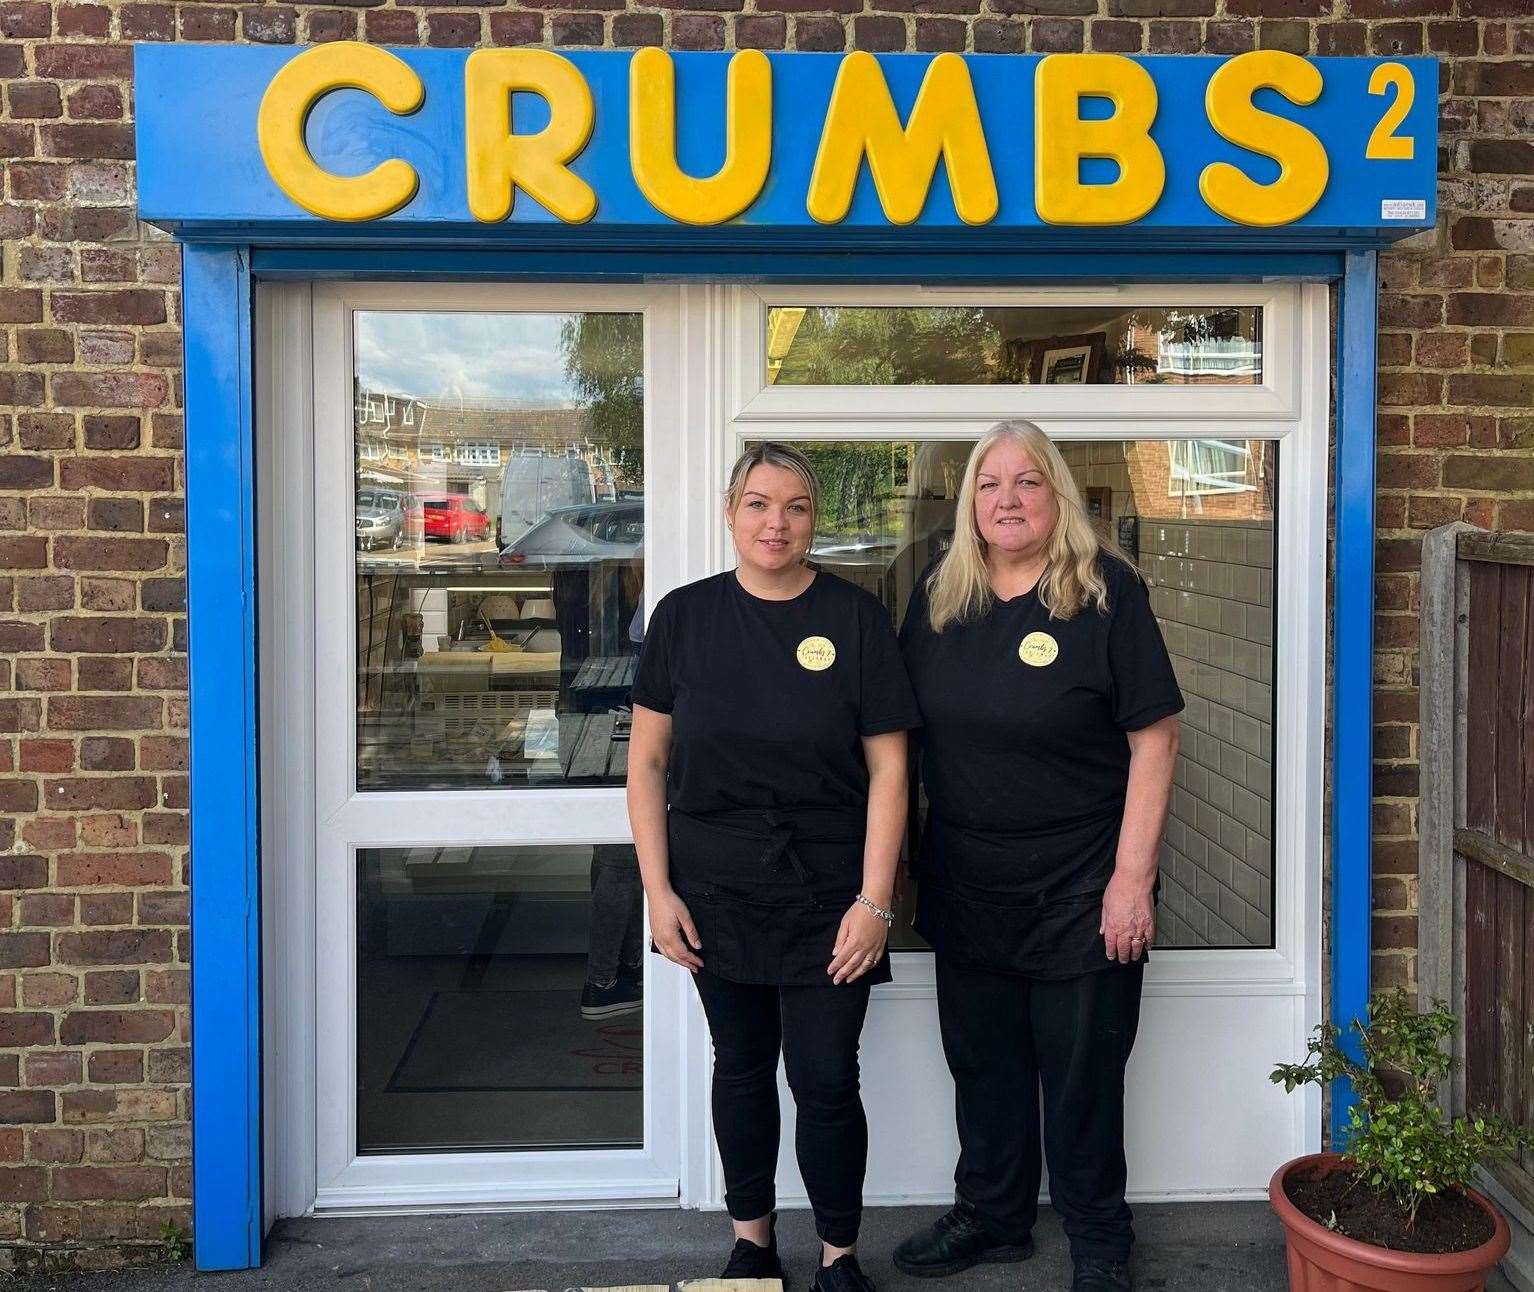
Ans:
{"label": "blue frame around the white door and window, below the sign", "polygon": [[[686,236],[686,235],[683,235]],[[1327,279],[1338,284],[1336,534],[1332,569],[1332,1017],[1359,1016],[1370,982],[1374,589],[1373,250],[643,253],[591,249],[252,250],[183,247],[187,583],[192,703],[192,1089],[198,1269],[261,1263],[261,885],[256,786],[256,532],[252,282],[270,278],[634,279],[655,273],[781,281]],[[1351,1091],[1335,1089],[1333,1142]]]}

